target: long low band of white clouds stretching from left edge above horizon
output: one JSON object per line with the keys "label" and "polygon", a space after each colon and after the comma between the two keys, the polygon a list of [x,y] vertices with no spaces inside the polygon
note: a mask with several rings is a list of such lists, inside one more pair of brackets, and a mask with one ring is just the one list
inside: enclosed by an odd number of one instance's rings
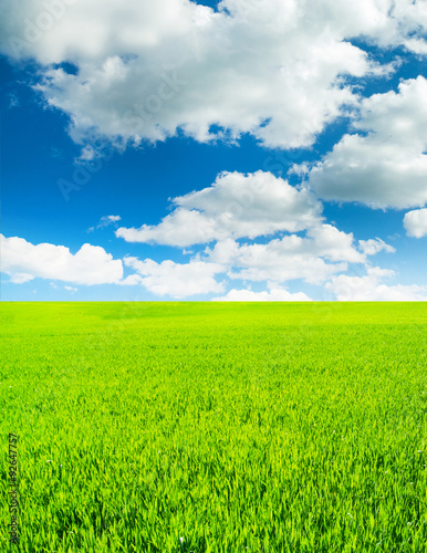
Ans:
{"label": "long low band of white clouds stretching from left edge above horizon", "polygon": [[[331,225],[310,229],[305,238],[289,234],[260,244],[223,240],[196,253],[187,263],[171,260],[158,263],[132,255],[115,260],[103,248],[88,243],[73,254],[63,246],[34,246],[18,237],[0,237],[1,271],[14,284],[40,278],[82,285],[143,286],[157,296],[184,299],[225,292],[227,279],[275,282],[270,292],[257,292],[257,295],[250,290],[232,289],[223,301],[242,298],[251,301],[285,301],[285,298],[308,301],[306,294],[291,294],[280,284],[301,279],[323,285],[335,274],[346,271],[348,263],[363,265],[367,263],[368,254],[393,250],[378,239],[368,241],[368,248],[363,241],[357,244],[353,234]],[[124,268],[134,272],[125,276]],[[67,290],[74,291],[70,286]]]}

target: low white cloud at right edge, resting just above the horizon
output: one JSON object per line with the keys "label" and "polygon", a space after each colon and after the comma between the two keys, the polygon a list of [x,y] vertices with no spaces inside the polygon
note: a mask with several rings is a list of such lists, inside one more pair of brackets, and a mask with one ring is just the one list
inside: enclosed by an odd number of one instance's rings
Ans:
{"label": "low white cloud at right edge, resting just above the horizon", "polygon": [[427,301],[427,286],[402,284],[383,284],[383,278],[393,276],[395,273],[379,268],[367,268],[364,276],[340,274],[333,276],[325,289],[333,293],[339,301],[348,302],[412,302]]}

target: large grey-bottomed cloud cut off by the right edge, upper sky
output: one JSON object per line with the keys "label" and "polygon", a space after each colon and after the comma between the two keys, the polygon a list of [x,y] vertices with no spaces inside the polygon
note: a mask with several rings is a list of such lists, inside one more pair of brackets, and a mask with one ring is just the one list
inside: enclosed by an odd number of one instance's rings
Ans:
{"label": "large grey-bottomed cloud cut off by the right edge, upper sky", "polygon": [[310,173],[326,200],[374,208],[421,207],[427,202],[427,80],[402,82],[398,93],[362,102],[357,134],[345,135]]}

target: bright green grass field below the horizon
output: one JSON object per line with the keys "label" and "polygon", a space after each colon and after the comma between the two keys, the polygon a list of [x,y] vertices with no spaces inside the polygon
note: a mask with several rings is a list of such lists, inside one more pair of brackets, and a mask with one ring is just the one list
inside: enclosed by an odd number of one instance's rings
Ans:
{"label": "bright green grass field below the horizon", "polygon": [[0,551],[427,551],[426,303],[2,303],[0,320]]}

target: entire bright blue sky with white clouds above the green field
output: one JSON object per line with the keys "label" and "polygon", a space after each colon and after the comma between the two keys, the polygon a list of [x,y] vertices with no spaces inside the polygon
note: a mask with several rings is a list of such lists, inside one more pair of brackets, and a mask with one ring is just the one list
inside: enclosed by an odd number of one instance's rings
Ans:
{"label": "entire bright blue sky with white clouds above the green field", "polygon": [[0,20],[2,301],[427,300],[425,2]]}

